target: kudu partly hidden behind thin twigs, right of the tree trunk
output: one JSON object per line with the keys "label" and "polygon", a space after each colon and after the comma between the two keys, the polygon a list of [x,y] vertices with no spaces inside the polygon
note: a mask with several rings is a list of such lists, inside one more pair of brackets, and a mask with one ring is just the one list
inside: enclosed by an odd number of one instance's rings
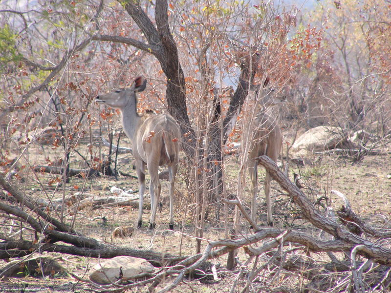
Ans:
{"label": "kudu partly hidden behind thin twigs, right of the tree trunk", "polygon": [[[267,82],[264,86],[267,85]],[[273,105],[280,104],[285,97],[277,97],[270,88],[258,87],[255,92],[257,97],[257,111],[252,121],[253,132],[252,142],[248,157],[248,169],[251,179],[251,218],[255,221],[257,214],[257,193],[258,193],[258,160],[257,157],[266,155],[277,163],[277,158],[282,148],[282,134],[276,118],[267,114],[267,109]],[[264,179],[264,192],[266,197],[267,224],[273,226],[272,203],[270,199],[270,174],[266,170]]]}

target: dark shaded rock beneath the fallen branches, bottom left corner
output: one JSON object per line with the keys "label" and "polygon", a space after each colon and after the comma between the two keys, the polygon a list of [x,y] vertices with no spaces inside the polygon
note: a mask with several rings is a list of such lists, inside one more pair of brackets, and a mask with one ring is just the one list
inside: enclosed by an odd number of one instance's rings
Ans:
{"label": "dark shaded rock beneath the fallen branches, bottom left corner", "polygon": [[[41,270],[42,268],[42,270]],[[49,257],[36,257],[22,260],[13,260],[0,270],[5,277],[25,277],[30,276],[54,276],[56,274],[66,275],[66,270],[55,260]]]}

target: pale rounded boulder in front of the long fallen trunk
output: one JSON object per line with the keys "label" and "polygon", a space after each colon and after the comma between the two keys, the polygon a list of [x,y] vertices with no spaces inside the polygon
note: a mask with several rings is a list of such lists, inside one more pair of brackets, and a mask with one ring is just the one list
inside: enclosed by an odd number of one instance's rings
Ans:
{"label": "pale rounded boulder in front of the long fallen trunk", "polygon": [[97,284],[111,284],[122,278],[127,280],[142,272],[153,272],[154,267],[145,259],[131,256],[116,256],[92,268],[89,279]]}

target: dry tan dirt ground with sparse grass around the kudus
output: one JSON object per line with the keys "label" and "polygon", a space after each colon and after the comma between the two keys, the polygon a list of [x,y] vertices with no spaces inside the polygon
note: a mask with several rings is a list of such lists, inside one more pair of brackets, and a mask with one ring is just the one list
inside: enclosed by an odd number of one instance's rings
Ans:
{"label": "dry tan dirt ground with sparse grass around the kudus", "polygon": [[[56,159],[55,151],[47,151],[47,148],[37,146],[30,149],[28,160],[31,165],[44,164],[45,158]],[[73,162],[81,162],[80,156],[72,154]],[[307,160],[307,165],[298,167],[291,165],[289,176],[293,180],[293,172],[302,176],[302,189],[308,197],[315,201],[320,196],[325,195],[328,198],[328,204],[333,209],[338,209],[343,205],[340,198],[330,194],[331,190],[338,190],[344,193],[352,209],[360,215],[365,221],[376,226],[380,220],[390,220],[391,214],[391,155],[366,156],[363,161],[351,164],[346,158],[337,155],[313,156]],[[136,175],[131,169],[131,155],[120,155],[118,159],[120,170],[131,175]],[[226,188],[228,193],[236,194],[238,186],[238,164],[239,158],[230,156],[226,158]],[[81,166],[75,164],[73,167]],[[263,169],[260,169],[260,181],[263,178]],[[191,255],[195,253],[195,239],[191,236],[194,232],[194,199],[186,190],[186,170],[179,170],[178,183],[176,184],[176,201],[174,207],[175,229],[174,232],[167,231],[168,228],[168,207],[165,205],[161,212],[157,214],[157,228],[153,231],[146,227],[135,230],[130,238],[120,239],[112,238],[112,230],[116,227],[132,224],[134,225],[137,217],[137,209],[126,206],[114,206],[100,209],[86,208],[79,211],[76,221],[76,230],[88,237],[112,243],[118,246],[125,246],[135,249],[153,250],[161,252],[170,252],[180,255]],[[20,182],[24,187],[26,194],[31,197],[43,196],[43,189],[46,194],[54,198],[61,197],[63,191],[65,194],[80,191],[83,187],[82,178],[73,178],[63,188],[55,189],[56,185],[49,186],[48,182],[57,175],[47,173],[37,173],[38,177],[30,175],[29,182]],[[149,178],[147,177],[147,182]],[[112,176],[103,176],[87,180],[84,192],[91,193],[95,197],[110,195],[109,189],[112,186],[124,190],[132,189],[134,193],[138,191],[137,180],[133,177],[119,177],[115,181]],[[246,190],[243,192],[244,203],[250,205],[249,182]],[[260,183],[261,185],[261,183]],[[146,185],[148,188],[148,184]],[[146,190],[148,193],[148,189]],[[168,193],[166,182],[162,184],[163,196]],[[263,191],[259,196],[259,222],[265,219],[265,204]],[[282,228],[286,222],[293,222],[294,215],[300,215],[296,208],[289,204],[289,199],[284,192],[277,186],[272,185],[272,195],[274,200],[274,213],[276,214],[277,227]],[[146,199],[149,202],[149,198]],[[326,202],[324,202],[326,204]],[[295,212],[296,210],[296,212]],[[186,214],[186,217],[184,215]],[[284,215],[288,214],[288,217]],[[146,209],[144,213],[144,224],[148,224],[150,210]],[[105,217],[107,221],[103,221]],[[69,216],[70,218],[70,216]],[[229,219],[232,218],[230,212]],[[211,209],[210,216],[206,222],[207,230],[204,238],[216,240],[224,238],[222,220],[217,221],[214,217],[214,210]],[[203,247],[205,247],[203,243]],[[48,253],[44,253],[47,255]],[[78,275],[80,278],[88,280],[88,272],[99,260],[87,257],[50,254],[52,257],[59,257],[58,262],[66,270]],[[240,257],[240,254],[239,254]],[[226,258],[214,260],[217,264],[225,265]],[[0,268],[6,263],[0,261]],[[170,280],[167,280],[166,285]],[[232,278],[225,278],[219,284],[202,284],[197,280],[185,280],[172,292],[227,292],[232,286]],[[162,287],[164,288],[164,284]],[[145,292],[147,288],[137,288],[128,292]],[[37,278],[25,275],[21,278],[9,278],[0,280],[1,292],[90,292],[94,288],[86,281],[78,281],[71,276],[56,276]]]}

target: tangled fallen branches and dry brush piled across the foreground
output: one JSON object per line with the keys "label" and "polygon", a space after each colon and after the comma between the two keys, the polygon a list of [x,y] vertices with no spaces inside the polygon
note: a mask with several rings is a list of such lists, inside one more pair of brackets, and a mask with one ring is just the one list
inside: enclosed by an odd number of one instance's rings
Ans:
{"label": "tangled fallen branches and dry brush piled across the foreground", "polygon": [[[344,209],[336,212],[337,216],[333,216],[332,210],[328,210],[328,216],[323,214],[273,161],[261,156],[259,162],[300,209],[305,229],[300,226],[287,229],[259,227],[240,200],[233,199],[226,203],[238,206],[248,220],[247,225],[252,225],[253,233],[205,242],[201,253],[188,256],[130,249],[97,241],[71,229],[21,193],[12,181],[8,183],[1,174],[0,184],[6,191],[0,202],[2,217],[28,228],[35,240],[3,234],[0,258],[21,258],[43,252],[100,258],[128,255],[144,258],[156,267],[155,272],[142,281],[127,285],[94,285],[98,291],[126,291],[148,286],[151,292],[169,292],[184,279],[199,277],[200,272],[204,283],[224,283],[229,276],[231,292],[368,292],[389,288],[390,230],[367,225],[350,209],[348,202]],[[212,259],[241,249],[246,261],[238,263],[231,271],[210,263]],[[80,276],[73,276],[82,280]]]}

